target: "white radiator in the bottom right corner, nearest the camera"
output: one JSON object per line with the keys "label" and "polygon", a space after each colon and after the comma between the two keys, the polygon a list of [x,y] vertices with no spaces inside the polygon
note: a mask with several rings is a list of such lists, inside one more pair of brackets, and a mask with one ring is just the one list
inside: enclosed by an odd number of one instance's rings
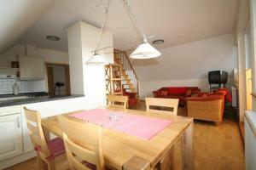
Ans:
{"label": "white radiator in the bottom right corner, nearest the camera", "polygon": [[256,112],[245,114],[245,161],[247,170],[256,169]]}

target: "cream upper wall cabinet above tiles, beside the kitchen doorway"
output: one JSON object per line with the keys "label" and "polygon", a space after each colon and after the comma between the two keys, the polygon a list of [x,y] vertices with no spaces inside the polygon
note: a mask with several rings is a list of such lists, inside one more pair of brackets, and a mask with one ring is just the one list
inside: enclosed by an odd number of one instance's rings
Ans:
{"label": "cream upper wall cabinet above tiles, beside the kitchen doorway", "polygon": [[20,56],[20,80],[44,79],[44,59]]}

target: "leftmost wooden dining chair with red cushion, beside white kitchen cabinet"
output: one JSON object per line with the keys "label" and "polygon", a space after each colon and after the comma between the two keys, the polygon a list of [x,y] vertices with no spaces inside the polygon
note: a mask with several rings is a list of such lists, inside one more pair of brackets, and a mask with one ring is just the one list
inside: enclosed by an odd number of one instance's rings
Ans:
{"label": "leftmost wooden dining chair with red cushion, beside white kitchen cabinet", "polygon": [[[26,125],[29,130],[30,138],[35,150],[38,154],[38,169],[44,168],[44,162],[47,164],[49,170],[54,170],[58,166],[59,169],[65,169],[67,159],[65,154],[65,147],[63,140],[60,138],[51,139],[48,142],[44,137],[43,128],[41,125],[41,114],[39,111],[28,110],[25,111]],[[66,164],[64,163],[66,161]]]}

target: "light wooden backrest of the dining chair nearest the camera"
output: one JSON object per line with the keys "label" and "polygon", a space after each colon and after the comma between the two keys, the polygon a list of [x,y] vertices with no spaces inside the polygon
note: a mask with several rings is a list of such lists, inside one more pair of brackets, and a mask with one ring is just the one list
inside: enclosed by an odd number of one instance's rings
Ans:
{"label": "light wooden backrest of the dining chair nearest the camera", "polygon": [[59,116],[67,160],[72,169],[104,169],[102,127]]}

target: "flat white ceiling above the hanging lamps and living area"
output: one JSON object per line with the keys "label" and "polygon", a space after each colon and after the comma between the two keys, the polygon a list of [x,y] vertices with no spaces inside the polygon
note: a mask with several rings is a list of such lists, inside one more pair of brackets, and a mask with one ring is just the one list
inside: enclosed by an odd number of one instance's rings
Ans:
{"label": "flat white ceiling above the hanging lamps and living area", "polygon": [[[18,0],[11,1],[19,2]],[[26,1],[32,2],[32,0]],[[44,1],[33,2],[38,4]],[[54,0],[39,20],[20,38],[20,42],[32,43],[39,48],[67,51],[66,30],[68,26],[72,26],[79,20],[92,26],[101,26],[103,8],[102,6],[94,8],[97,2],[99,0]],[[20,3],[19,5],[32,8],[36,5],[35,3]],[[156,47],[166,48],[235,32],[238,3],[239,0],[131,0],[131,8],[147,35],[154,35],[154,39],[166,41]],[[137,37],[121,0],[111,1],[109,13],[107,30],[113,33],[114,43],[129,41]],[[21,14],[19,16],[24,22],[27,18],[36,16],[36,12],[33,10],[33,13],[29,16],[24,15],[23,18]],[[23,22],[21,25],[24,25]],[[16,26],[19,23],[19,20],[15,21]],[[1,34],[12,35],[13,31],[5,30]],[[181,34],[183,37],[179,36]],[[48,35],[61,37],[61,41],[49,42],[45,38]],[[135,45],[124,46],[120,49],[127,50]]]}

